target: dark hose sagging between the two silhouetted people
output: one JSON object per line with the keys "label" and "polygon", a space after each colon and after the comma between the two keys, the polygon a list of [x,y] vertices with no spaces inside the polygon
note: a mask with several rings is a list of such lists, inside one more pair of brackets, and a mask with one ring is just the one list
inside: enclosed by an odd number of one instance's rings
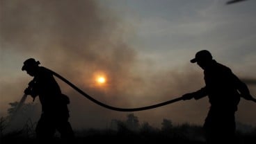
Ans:
{"label": "dark hose sagging between the two silhouetted people", "polygon": [[83,92],[81,89],[79,89],[78,87],[76,87],[74,84],[72,84],[71,82],[69,82],[68,80],[66,80],[65,78],[63,78],[61,75],[59,75],[58,73],[55,73],[54,71],[51,71],[50,69],[47,69],[48,71],[50,71],[53,75],[55,75],[57,78],[63,80],[63,82],[67,83],[68,85],[70,85],[70,87],[72,87],[73,89],[75,89],[76,91],[78,91],[79,93],[81,93],[81,95],[85,96],[86,98],[88,98],[89,100],[95,102],[97,105],[100,105],[102,107],[105,107],[106,109],[112,109],[114,111],[143,111],[143,110],[146,110],[146,109],[154,109],[156,107],[161,107],[163,105],[168,105],[170,103],[173,103],[173,102],[177,102],[179,100],[183,100],[182,97],[179,97],[179,98],[175,98],[173,100],[168,100],[166,102],[161,102],[159,104],[156,104],[156,105],[150,105],[150,106],[147,106],[147,107],[136,107],[136,108],[119,108],[119,107],[112,107],[110,105],[106,105],[102,102],[99,102],[98,100],[95,100],[94,98],[92,98],[91,96],[89,96],[87,93]]}

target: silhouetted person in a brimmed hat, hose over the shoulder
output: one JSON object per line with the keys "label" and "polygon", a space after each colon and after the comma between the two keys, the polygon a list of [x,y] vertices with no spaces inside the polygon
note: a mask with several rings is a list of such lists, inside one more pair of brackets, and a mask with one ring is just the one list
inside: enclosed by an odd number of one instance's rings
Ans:
{"label": "silhouetted person in a brimmed hat, hose over the shoulder", "polygon": [[39,61],[35,62],[35,59],[29,58],[22,66],[22,71],[33,77],[24,93],[31,95],[32,98],[39,96],[42,106],[42,114],[35,128],[36,136],[39,143],[50,143],[58,130],[63,141],[72,143],[74,133],[68,121],[69,98],[61,93],[52,73],[45,67],[38,66],[39,64]]}

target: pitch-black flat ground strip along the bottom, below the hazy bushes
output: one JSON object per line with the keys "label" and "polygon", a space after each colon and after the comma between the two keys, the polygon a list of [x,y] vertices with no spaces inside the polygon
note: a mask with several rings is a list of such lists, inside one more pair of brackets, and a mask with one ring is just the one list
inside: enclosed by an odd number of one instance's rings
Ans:
{"label": "pitch-black flat ground strip along the bottom, below the hazy bushes", "polygon": [[[171,131],[170,131],[171,130]],[[195,130],[195,129],[193,129]],[[189,129],[168,129],[157,130],[147,129],[140,132],[132,132],[127,129],[112,130],[112,129],[84,129],[76,131],[74,144],[80,143],[111,143],[111,144],[131,144],[131,143],[205,143],[200,129],[191,132]],[[1,144],[32,144],[38,143],[34,134],[29,134],[24,131],[10,132],[1,136]],[[52,143],[63,143],[61,138],[56,134]],[[221,142],[220,142],[221,143]],[[255,144],[256,132],[241,133],[237,132],[237,143],[239,144]]]}

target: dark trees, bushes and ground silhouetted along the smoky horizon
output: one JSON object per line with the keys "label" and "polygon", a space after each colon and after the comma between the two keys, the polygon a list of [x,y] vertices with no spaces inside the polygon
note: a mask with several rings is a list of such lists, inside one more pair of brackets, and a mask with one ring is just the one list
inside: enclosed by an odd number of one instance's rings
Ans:
{"label": "dark trees, bushes and ground silhouetted along the smoky horizon", "polygon": [[[17,102],[11,102],[8,109],[8,116],[13,114],[13,109],[18,105]],[[6,117],[0,118],[0,137],[1,143],[35,143],[35,125],[37,122],[31,120],[31,114],[35,113],[36,104],[27,103],[22,107],[22,114],[18,116],[19,120],[24,121],[20,128],[10,130],[7,125]],[[36,119],[36,118],[35,118]],[[16,123],[17,123],[16,121]],[[15,123],[12,123],[15,125]],[[20,123],[19,123],[20,125]],[[247,131],[237,129],[238,143],[255,143],[256,127],[243,125]],[[84,129],[74,129],[76,143],[205,143],[202,126],[189,123],[174,124],[172,120],[163,118],[161,127],[152,127],[150,123],[141,123],[138,116],[134,113],[127,114],[125,120],[113,118],[109,126],[104,129],[94,129],[93,127]],[[61,143],[61,138],[57,133],[55,142]]]}

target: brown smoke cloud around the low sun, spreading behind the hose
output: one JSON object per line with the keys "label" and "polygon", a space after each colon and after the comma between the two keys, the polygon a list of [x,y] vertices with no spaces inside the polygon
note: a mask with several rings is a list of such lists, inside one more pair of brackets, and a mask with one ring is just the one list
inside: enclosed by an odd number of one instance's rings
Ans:
{"label": "brown smoke cloud around the low sun, spreading behind the hose", "polygon": [[[100,7],[97,1],[2,0],[0,10],[1,59],[8,59],[3,60],[3,66],[9,74],[1,78],[1,104],[7,105],[2,106],[3,109],[8,108],[8,102],[21,98],[19,96],[32,79],[21,71],[23,61],[30,57],[113,107],[154,105],[200,89],[204,84],[200,69],[180,66],[152,71],[150,62],[139,61],[136,48],[125,41],[124,33],[130,27],[111,10]],[[17,71],[8,70],[14,66]],[[142,67],[145,69],[141,70]],[[95,83],[97,73],[106,75],[104,87]],[[107,127],[112,118],[123,119],[129,114],[95,105],[64,82],[58,80],[58,83],[63,93],[70,97],[70,121],[75,128]],[[15,89],[10,91],[13,87]],[[28,101],[31,102],[31,98]],[[163,118],[176,123],[202,124],[207,107],[205,98],[134,114],[141,122],[155,126],[161,125]]]}

